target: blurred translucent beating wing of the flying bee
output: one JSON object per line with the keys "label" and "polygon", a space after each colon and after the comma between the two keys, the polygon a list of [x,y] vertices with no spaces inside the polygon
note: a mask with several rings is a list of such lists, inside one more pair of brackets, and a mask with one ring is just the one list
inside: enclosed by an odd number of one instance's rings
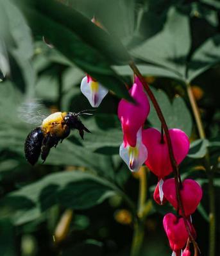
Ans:
{"label": "blurred translucent beating wing of the flying bee", "polygon": [[47,108],[39,99],[31,99],[31,101],[22,103],[17,111],[19,119],[30,124],[41,124],[49,115]]}

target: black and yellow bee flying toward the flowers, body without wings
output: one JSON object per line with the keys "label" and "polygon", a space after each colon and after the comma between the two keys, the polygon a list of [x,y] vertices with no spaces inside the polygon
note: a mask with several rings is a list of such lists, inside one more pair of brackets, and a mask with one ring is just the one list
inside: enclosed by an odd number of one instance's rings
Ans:
{"label": "black and yellow bee flying toward the flowers, body without wings", "polygon": [[81,114],[87,110],[79,113],[74,112],[56,112],[46,117],[41,126],[32,130],[26,138],[24,144],[24,153],[26,160],[33,166],[36,164],[41,155],[43,163],[45,162],[51,148],[55,147],[58,142],[69,136],[72,129],[77,129],[80,133],[81,139],[84,137],[84,131],[90,132],[79,118]]}

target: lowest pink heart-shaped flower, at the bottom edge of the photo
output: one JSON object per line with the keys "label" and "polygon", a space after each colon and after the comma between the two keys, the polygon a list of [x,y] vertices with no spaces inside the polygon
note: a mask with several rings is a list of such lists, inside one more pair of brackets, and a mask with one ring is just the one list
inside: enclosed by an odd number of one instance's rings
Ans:
{"label": "lowest pink heart-shaped flower, at the bottom edge of the photo", "polygon": [[172,213],[166,214],[164,216],[163,225],[169,239],[169,245],[175,253],[173,253],[173,255],[180,255],[189,237],[183,218],[178,218]]}

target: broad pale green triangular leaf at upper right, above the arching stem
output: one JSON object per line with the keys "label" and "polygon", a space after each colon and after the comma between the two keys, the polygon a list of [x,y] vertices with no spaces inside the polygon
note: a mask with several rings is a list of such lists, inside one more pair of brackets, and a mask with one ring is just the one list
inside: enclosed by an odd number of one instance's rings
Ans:
{"label": "broad pale green triangular leaf at upper right, above the arching stem", "polygon": [[132,49],[131,54],[148,64],[172,71],[184,80],[189,50],[189,17],[172,7],[167,13],[164,30]]}

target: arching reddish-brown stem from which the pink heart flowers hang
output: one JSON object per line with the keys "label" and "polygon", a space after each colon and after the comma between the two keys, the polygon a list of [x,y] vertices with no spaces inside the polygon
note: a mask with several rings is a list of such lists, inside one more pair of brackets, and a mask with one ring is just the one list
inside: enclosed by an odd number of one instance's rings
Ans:
{"label": "arching reddish-brown stem from which the pink heart flowers hang", "polygon": [[160,122],[162,124],[162,128],[164,129],[165,137],[167,139],[167,146],[168,146],[168,150],[169,150],[169,158],[171,160],[171,165],[173,167],[173,172],[174,172],[174,179],[175,179],[175,185],[176,185],[176,198],[177,198],[177,201],[178,201],[178,206],[179,206],[181,212],[183,213],[185,228],[187,229],[190,240],[192,241],[192,243],[194,244],[194,247],[196,248],[196,247],[198,247],[198,245],[197,245],[196,241],[194,240],[194,237],[192,236],[192,234],[190,232],[189,223],[187,221],[187,218],[185,217],[185,211],[183,209],[182,198],[181,198],[181,195],[180,195],[180,187],[182,187],[182,181],[181,181],[181,178],[180,178],[178,165],[177,165],[176,160],[174,158],[173,146],[172,146],[172,143],[171,143],[171,137],[169,136],[169,130],[168,130],[167,123],[165,122],[164,115],[162,114],[162,110],[161,110],[160,106],[158,105],[157,99],[153,95],[153,92],[149,88],[149,85],[148,85],[148,83],[146,83],[142,74],[140,74],[139,69],[137,68],[137,66],[135,65],[135,63],[133,61],[131,61],[129,65],[130,65],[131,69],[133,70],[133,73],[135,73],[135,75],[139,78],[142,85],[144,86],[144,89],[148,93],[148,96],[149,96],[149,98],[151,99],[151,101],[153,103],[153,107],[155,108],[155,110],[157,112],[158,118],[160,119]]}

